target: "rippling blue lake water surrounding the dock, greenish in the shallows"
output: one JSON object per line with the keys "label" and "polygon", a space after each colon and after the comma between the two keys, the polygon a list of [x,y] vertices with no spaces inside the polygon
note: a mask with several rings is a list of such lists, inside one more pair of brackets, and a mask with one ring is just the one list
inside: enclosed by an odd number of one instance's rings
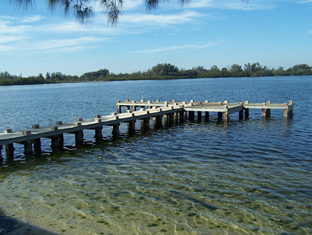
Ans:
{"label": "rippling blue lake water surrounding the dock, greenish in the shallows", "polygon": [[[110,115],[116,100],[272,103],[293,101],[263,119],[216,113],[135,135],[121,125],[103,142],[85,131],[76,148],[0,165],[0,211],[57,234],[311,234],[312,76],[121,81],[0,87],[0,129],[28,129]],[[0,231],[1,232],[1,231]]]}

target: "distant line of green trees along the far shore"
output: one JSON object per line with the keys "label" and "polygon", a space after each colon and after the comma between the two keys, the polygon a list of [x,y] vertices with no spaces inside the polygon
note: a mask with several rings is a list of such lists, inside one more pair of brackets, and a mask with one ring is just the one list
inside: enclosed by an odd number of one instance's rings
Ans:
{"label": "distant line of green trees along the far shore", "polygon": [[73,83],[88,81],[123,81],[123,80],[157,80],[157,79],[197,79],[197,78],[221,78],[221,77],[256,77],[256,76],[299,76],[312,75],[312,67],[306,64],[294,65],[284,70],[279,67],[277,70],[269,69],[260,63],[247,63],[242,67],[233,64],[230,67],[223,67],[221,70],[212,65],[209,70],[203,66],[193,67],[191,70],[179,69],[175,65],[162,63],[155,65],[146,72],[134,72],[132,74],[114,74],[107,69],[96,72],[87,72],[81,76],[71,76],[61,72],[47,72],[46,76],[17,76],[8,72],[0,72],[0,86],[31,85],[44,83]]}

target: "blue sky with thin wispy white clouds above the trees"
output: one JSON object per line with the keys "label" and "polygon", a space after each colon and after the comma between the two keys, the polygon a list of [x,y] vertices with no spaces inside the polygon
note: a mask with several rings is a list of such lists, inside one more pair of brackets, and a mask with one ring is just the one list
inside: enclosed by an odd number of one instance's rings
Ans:
{"label": "blue sky with thin wispy white clouds above the trees", "polygon": [[191,69],[259,62],[269,68],[312,66],[312,0],[164,1],[151,13],[144,1],[125,0],[116,26],[101,8],[80,25],[62,10],[16,10],[0,1],[0,72],[33,76],[80,75],[106,68],[144,72],[158,63]]}

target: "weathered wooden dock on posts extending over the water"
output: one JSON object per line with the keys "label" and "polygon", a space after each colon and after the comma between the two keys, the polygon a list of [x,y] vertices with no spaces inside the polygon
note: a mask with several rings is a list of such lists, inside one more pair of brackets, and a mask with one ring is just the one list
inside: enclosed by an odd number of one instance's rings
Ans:
{"label": "weathered wooden dock on posts extending over the water", "polygon": [[[93,129],[95,131],[94,138],[103,139],[103,126],[112,127],[112,135],[119,136],[119,125],[123,122],[127,123],[129,131],[135,131],[135,122],[140,120],[141,126],[144,129],[149,129],[150,118],[153,118],[155,125],[162,125],[162,122],[173,123],[180,120],[183,122],[187,118],[193,119],[195,112],[197,112],[198,119],[202,117],[202,112],[205,112],[205,117],[209,117],[209,112],[218,113],[218,118],[227,122],[229,114],[239,113],[239,117],[249,115],[250,108],[260,108],[262,117],[270,117],[271,109],[284,110],[284,117],[293,115],[293,102],[284,104],[271,104],[266,102],[263,104],[252,104],[248,101],[240,103],[217,102],[145,102],[141,99],[140,102],[130,101],[126,99],[125,102],[116,102],[117,113],[111,115],[101,116],[95,115],[94,118],[83,120],[77,118],[75,122],[62,123],[62,121],[55,122],[55,125],[40,127],[39,124],[33,124],[31,129],[12,131],[12,129],[5,129],[0,133],[0,156],[1,149],[5,146],[6,156],[12,156],[14,153],[14,144],[24,145],[24,154],[33,154],[41,152],[41,138],[51,139],[51,149],[60,149],[64,146],[64,133],[72,133],[75,136],[76,145],[83,143],[83,130]],[[125,112],[122,112],[125,109]],[[139,109],[139,110],[137,110]]]}

